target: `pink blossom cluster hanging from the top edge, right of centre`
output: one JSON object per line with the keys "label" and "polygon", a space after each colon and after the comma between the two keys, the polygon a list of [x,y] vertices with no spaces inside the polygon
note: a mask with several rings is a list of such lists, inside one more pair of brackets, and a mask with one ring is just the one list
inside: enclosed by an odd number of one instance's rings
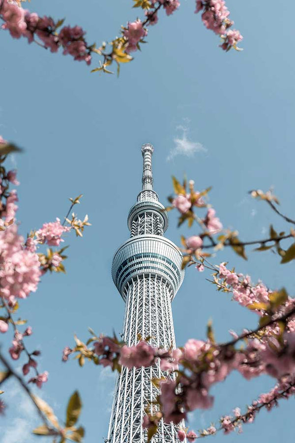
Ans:
{"label": "pink blossom cluster hanging from the top edge, right of centre", "polygon": [[219,34],[224,40],[221,48],[225,51],[232,47],[238,49],[237,44],[243,37],[239,31],[229,29],[234,22],[229,19],[230,11],[224,0],[196,0],[195,13],[200,11],[203,11],[202,21],[206,28]]}

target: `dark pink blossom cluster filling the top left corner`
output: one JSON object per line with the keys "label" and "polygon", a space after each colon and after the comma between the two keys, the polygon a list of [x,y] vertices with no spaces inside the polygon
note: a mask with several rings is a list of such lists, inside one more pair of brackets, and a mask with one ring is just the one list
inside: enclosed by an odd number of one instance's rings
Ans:
{"label": "dark pink blossom cluster filling the top left corner", "polygon": [[26,37],[31,43],[37,36],[45,48],[71,55],[74,60],[91,63],[91,47],[87,44],[85,32],[79,26],[63,27],[57,32],[61,22],[56,23],[51,17],[39,17],[35,12],[23,9],[14,0],[1,0],[0,18],[4,21],[2,29],[7,29],[13,38]]}

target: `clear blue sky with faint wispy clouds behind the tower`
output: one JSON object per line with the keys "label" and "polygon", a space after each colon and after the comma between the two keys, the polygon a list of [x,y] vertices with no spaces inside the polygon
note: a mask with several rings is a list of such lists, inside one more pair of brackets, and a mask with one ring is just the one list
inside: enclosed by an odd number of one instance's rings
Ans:
{"label": "clear blue sky with faint wispy clouds behind the tower", "polygon": [[[21,305],[34,331],[28,345],[42,349],[40,368],[50,373],[43,398],[62,419],[68,397],[80,391],[86,443],[102,442],[107,435],[114,377],[90,364],[83,369],[74,361],[62,364],[60,355],[74,333],[88,337],[88,326],[97,333],[121,330],[124,306],[110,269],[114,252],[129,236],[127,214],[141,187],[141,145],[154,145],[155,190],[164,204],[172,192],[171,175],[186,173],[197,189],[213,187],[210,203],[224,226],[237,229],[242,239],[263,237],[270,222],[285,228],[268,207],[250,199],[248,190],[273,185],[284,211],[290,216],[294,211],[295,4],[284,3],[279,12],[274,0],[227,4],[244,35],[243,52],[225,54],[218,37],[193,13],[194,1],[181,1],[173,16],[160,14],[148,44],[122,66],[119,78],[90,74],[85,63],[0,34],[0,134],[25,148],[10,160],[21,181],[20,230],[26,235],[62,218],[67,198],[80,193],[77,210],[81,217],[88,213],[92,223],[83,239],[66,239],[67,274],[45,276],[38,292]],[[39,0],[28,8],[66,17],[66,24],[82,26],[88,41],[99,44],[136,18],[138,10],[131,5],[131,0],[89,0],[86,6],[76,0]],[[184,148],[193,155],[183,155]],[[177,230],[176,224],[171,213],[166,235],[179,244],[180,234],[188,231]],[[253,280],[261,278],[272,288],[285,285],[294,294],[293,262],[279,265],[268,252],[248,255],[244,261],[226,250],[212,261],[230,261]],[[189,269],[173,302],[179,346],[191,337],[204,338],[210,317],[220,341],[229,338],[229,329],[239,332],[256,324],[255,315],[217,293],[207,277]],[[5,338],[8,348],[11,337]],[[188,424],[197,430],[236,406],[243,410],[273,384],[269,377],[245,381],[233,374],[214,388],[212,410],[195,412]],[[18,388],[8,387],[14,403],[3,421],[1,443],[37,441],[29,431],[38,419]],[[260,412],[243,434],[218,434],[215,441],[291,443],[292,409],[294,399],[283,401],[271,413]]]}

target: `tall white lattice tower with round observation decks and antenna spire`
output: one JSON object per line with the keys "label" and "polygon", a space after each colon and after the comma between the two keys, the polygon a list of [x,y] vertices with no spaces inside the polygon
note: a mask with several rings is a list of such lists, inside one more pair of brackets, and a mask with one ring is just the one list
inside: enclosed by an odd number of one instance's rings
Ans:
{"label": "tall white lattice tower with round observation decks and antenna spire", "polygon": [[[142,146],[142,190],[129,211],[127,224],[131,236],[115,253],[112,277],[125,302],[122,337],[126,345],[133,346],[140,337],[150,337],[151,346],[168,349],[176,347],[171,302],[184,271],[181,252],[163,236],[168,215],[153,190],[152,153],[152,145]],[[161,371],[158,363],[141,369],[122,368],[116,381],[107,442],[147,442],[143,417],[145,409],[159,394],[150,380],[163,376],[168,374]],[[179,443],[178,429],[173,423],[161,420],[152,442]]]}

